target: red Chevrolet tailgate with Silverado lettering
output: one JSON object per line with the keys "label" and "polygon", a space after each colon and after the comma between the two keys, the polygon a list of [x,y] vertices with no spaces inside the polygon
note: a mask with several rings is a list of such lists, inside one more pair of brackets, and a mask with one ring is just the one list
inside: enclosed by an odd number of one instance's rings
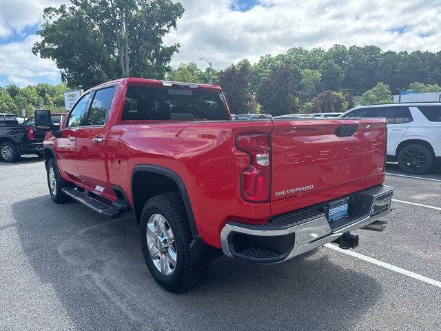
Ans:
{"label": "red Chevrolet tailgate with Silverado lettering", "polygon": [[382,183],[386,137],[385,119],[274,120],[271,214]]}

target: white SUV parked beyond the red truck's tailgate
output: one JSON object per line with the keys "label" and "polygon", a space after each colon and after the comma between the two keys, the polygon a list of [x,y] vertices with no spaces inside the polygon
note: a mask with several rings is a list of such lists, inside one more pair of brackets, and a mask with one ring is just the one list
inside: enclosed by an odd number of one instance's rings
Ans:
{"label": "white SUV parked beyond the red truck's tailgate", "polygon": [[441,163],[441,103],[388,103],[358,106],[340,118],[387,118],[387,160],[410,174]]}

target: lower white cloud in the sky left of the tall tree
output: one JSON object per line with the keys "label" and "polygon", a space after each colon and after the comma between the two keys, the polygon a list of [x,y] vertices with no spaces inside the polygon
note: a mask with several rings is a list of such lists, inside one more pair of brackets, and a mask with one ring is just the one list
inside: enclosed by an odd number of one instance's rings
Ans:
{"label": "lower white cloud in the sky left of the tall tree", "polygon": [[0,75],[5,75],[8,83],[27,86],[42,81],[61,80],[53,61],[32,54],[31,48],[36,41],[39,41],[39,37],[32,35],[23,41],[0,46]]}

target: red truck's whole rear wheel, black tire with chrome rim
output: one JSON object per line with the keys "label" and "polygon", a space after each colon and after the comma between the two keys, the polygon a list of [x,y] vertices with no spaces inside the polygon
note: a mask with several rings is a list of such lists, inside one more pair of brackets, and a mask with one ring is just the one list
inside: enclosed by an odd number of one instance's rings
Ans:
{"label": "red truck's whole rear wheel, black tire with chrome rim", "polygon": [[144,205],[140,225],[145,263],[156,283],[178,293],[203,279],[209,263],[192,262],[192,232],[179,194],[152,197]]}

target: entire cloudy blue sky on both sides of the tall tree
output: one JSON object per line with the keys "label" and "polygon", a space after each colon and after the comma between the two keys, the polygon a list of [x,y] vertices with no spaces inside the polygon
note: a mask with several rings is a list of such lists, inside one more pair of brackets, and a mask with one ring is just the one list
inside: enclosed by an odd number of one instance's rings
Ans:
{"label": "entire cloudy blue sky on both sides of the tall tree", "polygon": [[[0,0],[0,86],[58,83],[54,61],[32,54],[43,9],[68,0]],[[165,44],[180,43],[172,66],[212,61],[225,68],[291,47],[376,45],[441,50],[441,0],[181,0],[185,14]]]}

